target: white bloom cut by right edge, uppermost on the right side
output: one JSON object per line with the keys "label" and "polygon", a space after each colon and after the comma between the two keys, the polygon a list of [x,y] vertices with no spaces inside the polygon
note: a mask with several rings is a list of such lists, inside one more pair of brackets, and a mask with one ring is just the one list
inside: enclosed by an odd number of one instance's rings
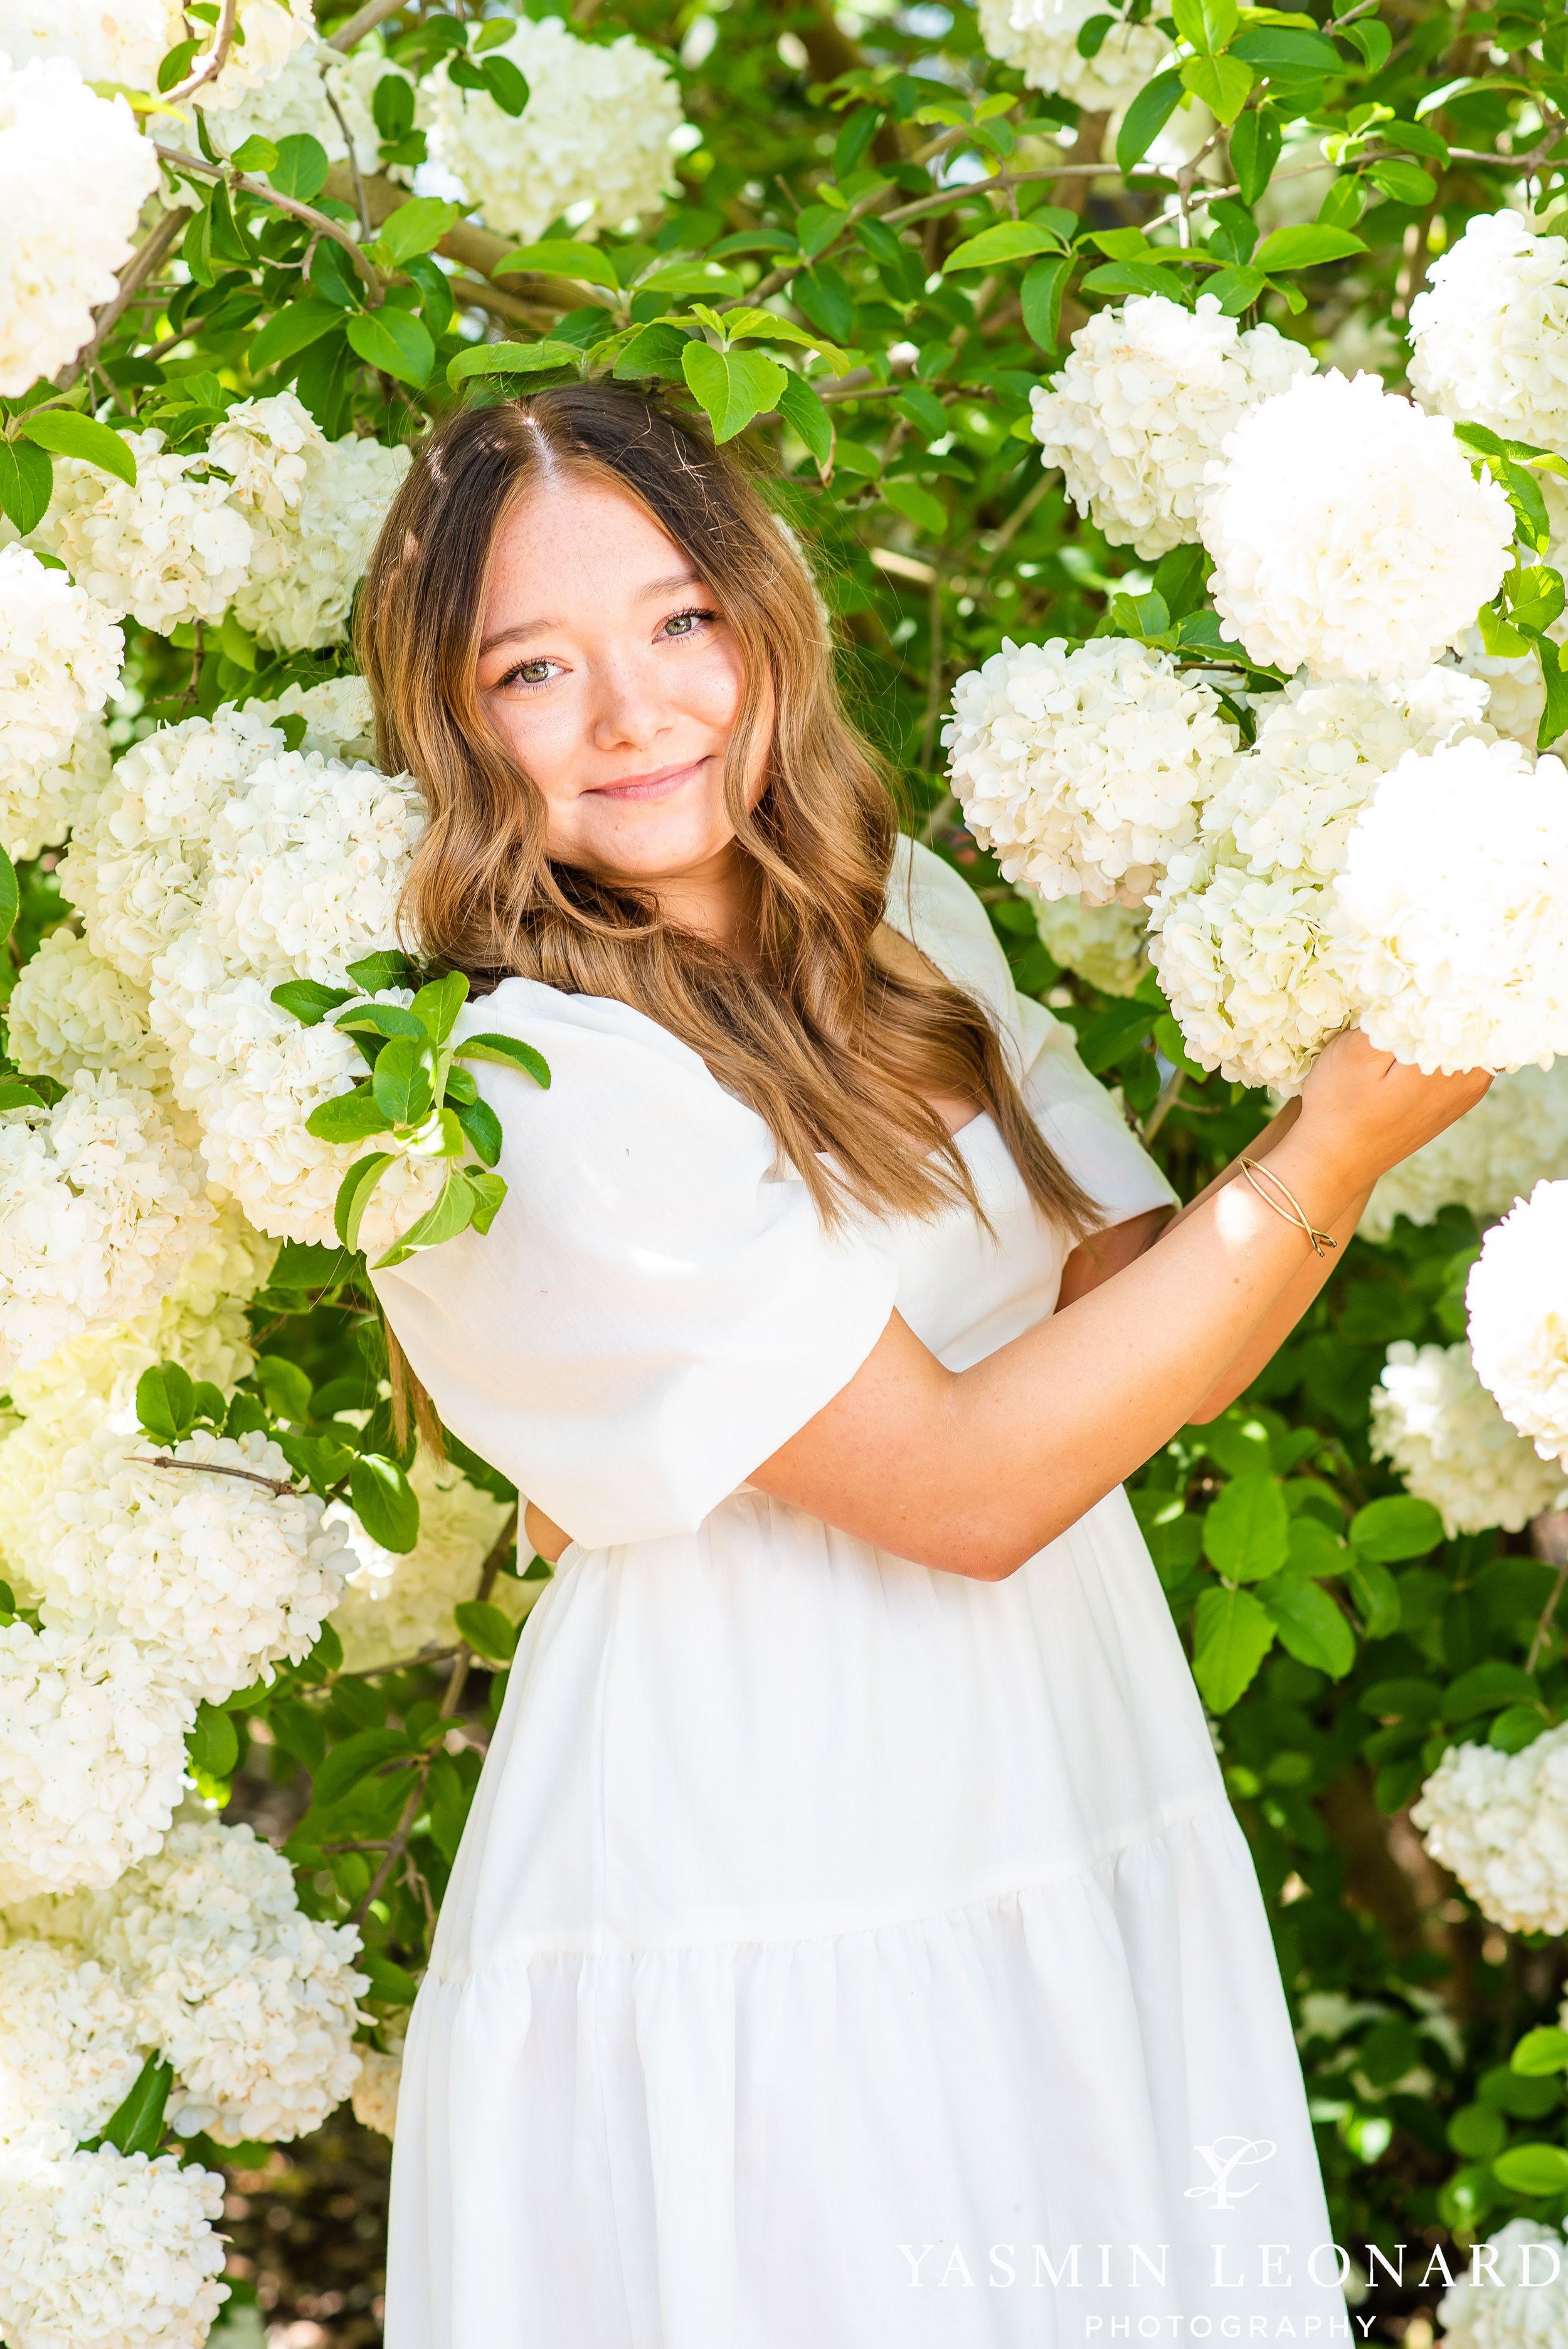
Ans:
{"label": "white bloom cut by right edge, uppermost on the right side", "polygon": [[1568,240],[1476,211],[1411,303],[1411,390],[1439,416],[1568,456]]}

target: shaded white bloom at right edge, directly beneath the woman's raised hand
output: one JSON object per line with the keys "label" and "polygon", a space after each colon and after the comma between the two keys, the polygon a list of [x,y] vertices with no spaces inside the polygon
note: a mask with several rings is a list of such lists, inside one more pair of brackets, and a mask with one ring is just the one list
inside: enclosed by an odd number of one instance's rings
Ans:
{"label": "shaded white bloom at right edge, directly beneath the woman's raised hand", "polygon": [[1397,1214],[1432,1224],[1451,1205],[1488,1221],[1554,1174],[1568,1174],[1568,1057],[1500,1076],[1467,1116],[1378,1179],[1359,1231],[1387,1240]]}

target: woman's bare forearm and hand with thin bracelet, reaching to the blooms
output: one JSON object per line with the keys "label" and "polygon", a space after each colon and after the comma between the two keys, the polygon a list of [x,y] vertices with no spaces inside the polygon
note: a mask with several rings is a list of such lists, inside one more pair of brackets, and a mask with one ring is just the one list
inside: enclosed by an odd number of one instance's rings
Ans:
{"label": "woman's bare forearm and hand with thin bracelet, reaching to the blooms", "polygon": [[[1486,1083],[1420,1076],[1352,1031],[1317,1062],[1270,1160],[1319,1229],[1354,1229],[1378,1174]],[[1136,1261],[972,1369],[944,1369],[894,1313],[751,1482],[899,1557],[995,1581],[1169,1442],[1319,1280],[1305,1236],[1251,1184],[1221,1182]]]}

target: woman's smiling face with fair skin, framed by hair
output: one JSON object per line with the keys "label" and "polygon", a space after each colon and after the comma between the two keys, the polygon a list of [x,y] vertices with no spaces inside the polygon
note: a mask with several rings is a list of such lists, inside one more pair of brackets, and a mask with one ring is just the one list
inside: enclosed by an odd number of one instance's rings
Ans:
{"label": "woman's smiling face with fair skin, framed by hair", "polygon": [[552,857],[646,883],[728,862],[742,691],[707,580],[631,498],[570,477],[533,491],[495,547],[479,693],[545,796]]}

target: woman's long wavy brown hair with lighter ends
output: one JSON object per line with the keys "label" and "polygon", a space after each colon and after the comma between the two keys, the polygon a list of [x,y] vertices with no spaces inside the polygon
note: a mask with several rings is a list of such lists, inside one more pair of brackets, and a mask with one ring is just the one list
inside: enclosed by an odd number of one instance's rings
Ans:
{"label": "woman's long wavy brown hair with lighter ends", "polygon": [[[545,801],[477,686],[491,557],[535,484],[580,477],[631,498],[688,557],[744,660],[725,806],[749,860],[756,963],[660,914],[646,888],[554,862]],[[509,972],[657,1019],[770,1128],[824,1221],[850,1203],[979,1212],[927,1092],[1000,1128],[1035,1203],[1075,1238],[1099,1224],[1047,1146],[1002,1041],[962,989],[890,951],[897,848],[887,778],[845,719],[805,564],[737,458],[646,392],[577,383],[472,409],[420,449],[371,559],[357,620],[387,773],[430,806],[404,930],[477,989]],[[746,808],[751,742],[772,735]],[[817,1156],[826,1153],[826,1156]]]}

